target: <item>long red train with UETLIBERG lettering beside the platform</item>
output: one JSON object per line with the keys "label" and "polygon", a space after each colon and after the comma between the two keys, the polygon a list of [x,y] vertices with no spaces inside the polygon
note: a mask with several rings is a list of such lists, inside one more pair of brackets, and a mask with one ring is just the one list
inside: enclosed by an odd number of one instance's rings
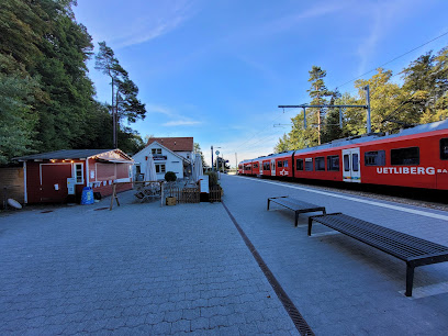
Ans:
{"label": "long red train with UETLIBERG lettering beside the platform", "polygon": [[448,120],[244,160],[238,173],[448,190]]}

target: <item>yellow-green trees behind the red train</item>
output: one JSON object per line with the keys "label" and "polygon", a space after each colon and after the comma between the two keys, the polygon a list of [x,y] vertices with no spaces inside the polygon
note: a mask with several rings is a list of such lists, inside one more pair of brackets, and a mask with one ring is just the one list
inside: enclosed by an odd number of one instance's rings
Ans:
{"label": "yellow-green trees behind the red train", "polygon": [[[412,61],[401,72],[403,85],[392,82],[391,70],[377,69],[369,79],[355,82],[358,94],[347,92],[339,94],[329,91],[324,82],[326,71],[313,66],[309,81],[311,88],[310,104],[348,104],[365,105],[365,87],[370,88],[371,127],[372,132],[396,132],[403,126],[424,124],[448,117],[448,47],[437,54],[432,52]],[[329,98],[329,101],[328,101]],[[338,109],[306,109],[304,128],[303,112],[292,121],[291,132],[279,138],[275,152],[300,149],[317,145],[318,113],[321,113],[322,142],[359,135],[367,132],[367,113],[362,108],[343,109],[343,128],[339,127]]]}

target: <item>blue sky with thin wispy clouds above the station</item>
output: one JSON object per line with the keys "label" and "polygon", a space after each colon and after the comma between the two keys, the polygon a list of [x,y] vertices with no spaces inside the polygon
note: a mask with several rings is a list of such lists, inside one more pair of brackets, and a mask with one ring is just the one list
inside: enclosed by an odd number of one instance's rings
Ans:
{"label": "blue sky with thin wispy clouds above the station", "polygon": [[[144,137],[193,136],[231,165],[272,153],[293,110],[309,102],[309,70],[327,71],[329,89],[448,31],[448,1],[78,0],[75,14],[113,48],[139,88]],[[448,35],[385,68],[394,74]],[[110,101],[105,76],[89,63],[98,100]],[[373,72],[365,76],[369,78]],[[400,80],[400,77],[395,77]],[[120,146],[120,144],[119,144]]]}

